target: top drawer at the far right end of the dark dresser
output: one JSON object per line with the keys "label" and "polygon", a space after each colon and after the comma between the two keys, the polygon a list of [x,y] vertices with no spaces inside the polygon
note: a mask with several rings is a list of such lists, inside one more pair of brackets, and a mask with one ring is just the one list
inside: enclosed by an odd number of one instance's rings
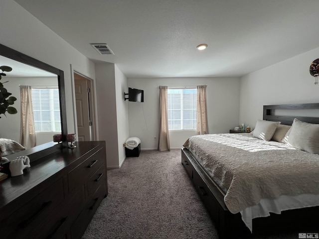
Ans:
{"label": "top drawer at the far right end of the dark dresser", "polygon": [[104,163],[104,148],[100,148],[97,152],[88,157],[79,166],[68,173],[69,192],[72,192],[81,184],[85,183],[96,170]]}

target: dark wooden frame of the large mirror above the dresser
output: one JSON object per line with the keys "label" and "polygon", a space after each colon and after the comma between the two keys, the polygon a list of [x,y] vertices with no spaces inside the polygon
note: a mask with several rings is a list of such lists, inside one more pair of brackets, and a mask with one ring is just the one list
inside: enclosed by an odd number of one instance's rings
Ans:
{"label": "dark wooden frame of the large mirror above the dresser", "polygon": [[[27,56],[21,52],[13,50],[13,49],[11,49],[7,46],[4,46],[2,44],[0,44],[0,55],[57,75],[58,87],[59,87],[59,100],[60,100],[62,144],[63,145],[66,144],[67,143],[67,141],[66,141],[67,121],[66,121],[66,105],[65,105],[64,72],[62,70],[59,70],[53,66],[50,66],[44,62],[41,62],[37,59],[34,59],[30,56]],[[52,140],[53,140],[53,137],[52,137]],[[43,145],[45,145],[45,144],[43,144]],[[39,147],[39,148],[41,150],[41,149],[44,149],[44,147],[45,146]]]}

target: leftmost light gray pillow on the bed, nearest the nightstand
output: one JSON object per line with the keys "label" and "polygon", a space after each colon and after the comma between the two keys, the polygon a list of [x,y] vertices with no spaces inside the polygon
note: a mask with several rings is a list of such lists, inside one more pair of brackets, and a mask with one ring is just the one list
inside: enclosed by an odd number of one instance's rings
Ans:
{"label": "leftmost light gray pillow on the bed, nearest the nightstand", "polygon": [[253,132],[253,136],[265,141],[270,141],[279,124],[280,122],[258,119]]}

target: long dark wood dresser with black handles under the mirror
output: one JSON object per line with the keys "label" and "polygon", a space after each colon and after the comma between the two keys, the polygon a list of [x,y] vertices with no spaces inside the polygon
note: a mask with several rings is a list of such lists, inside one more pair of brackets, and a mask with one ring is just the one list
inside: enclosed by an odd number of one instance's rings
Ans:
{"label": "long dark wood dresser with black handles under the mirror", "polygon": [[105,141],[76,142],[0,182],[1,239],[79,239],[108,194]]}

